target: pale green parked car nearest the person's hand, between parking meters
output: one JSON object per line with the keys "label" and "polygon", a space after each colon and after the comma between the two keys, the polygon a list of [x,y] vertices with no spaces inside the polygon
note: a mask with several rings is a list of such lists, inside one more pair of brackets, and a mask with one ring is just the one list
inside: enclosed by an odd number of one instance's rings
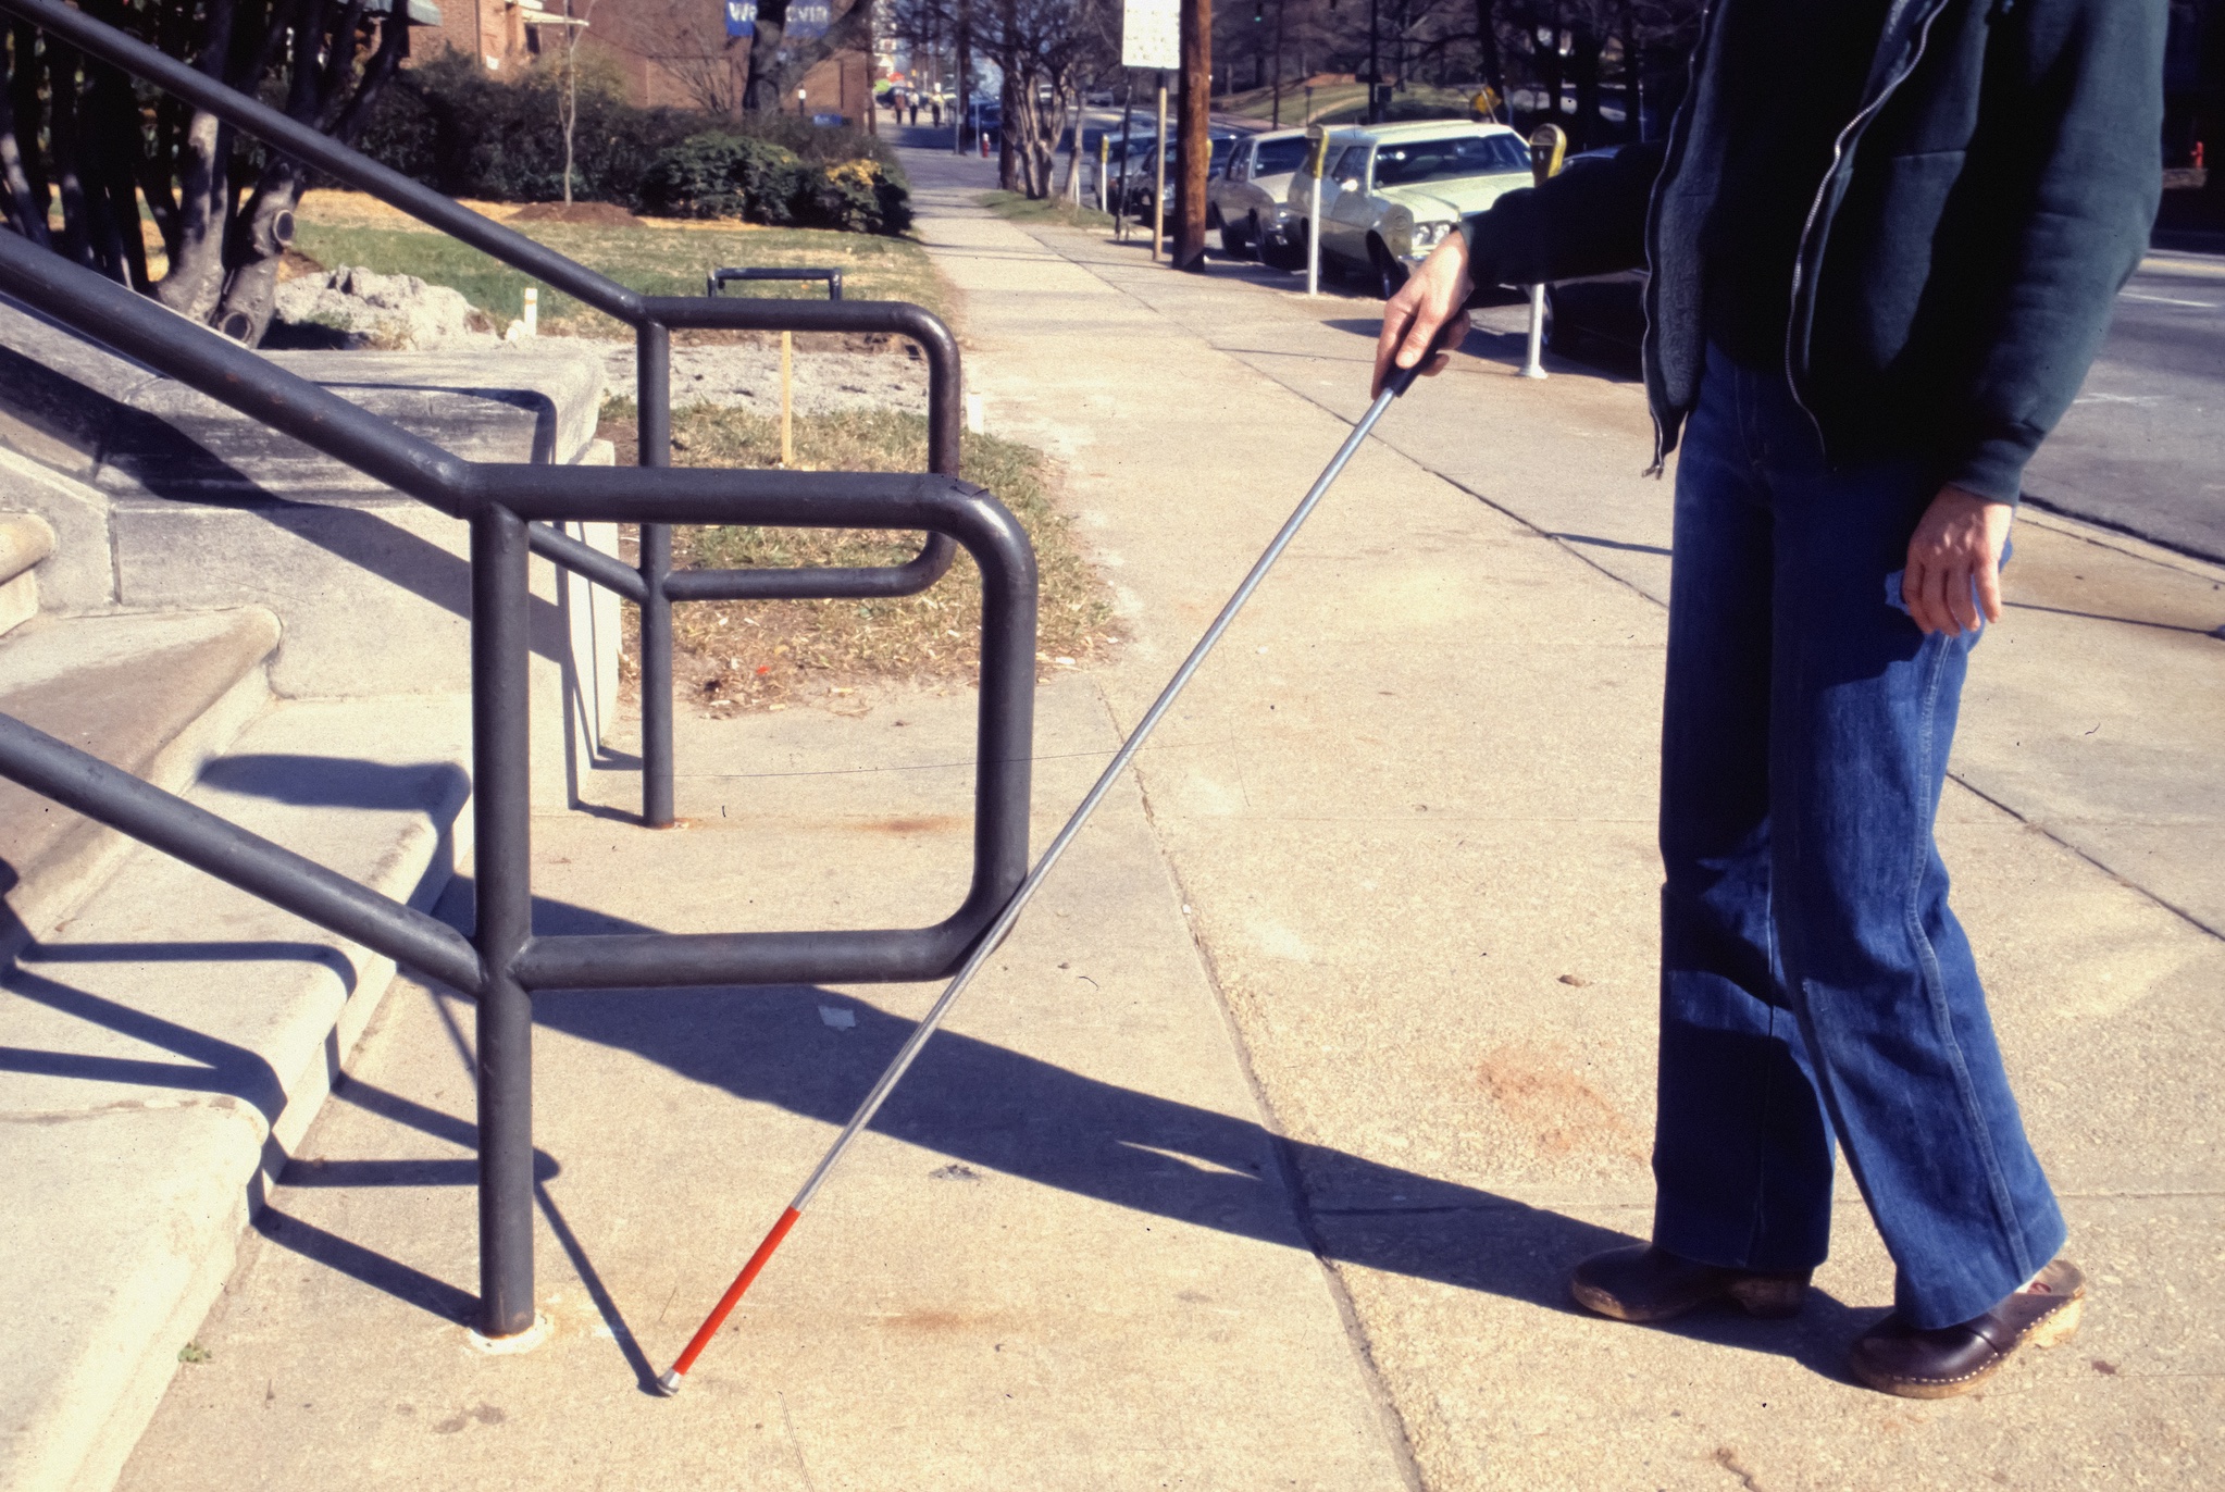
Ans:
{"label": "pale green parked car nearest the person's hand, between parking meters", "polygon": [[[1417,120],[1333,129],[1322,178],[1322,262],[1366,273],[1388,298],[1464,216],[1529,185],[1529,145],[1504,125]],[[1286,200],[1304,245],[1313,178],[1293,176]]]}

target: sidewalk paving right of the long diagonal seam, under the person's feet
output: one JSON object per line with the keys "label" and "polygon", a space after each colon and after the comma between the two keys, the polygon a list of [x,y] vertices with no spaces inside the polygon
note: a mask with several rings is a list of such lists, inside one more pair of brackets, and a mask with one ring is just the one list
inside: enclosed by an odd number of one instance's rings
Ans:
{"label": "sidewalk paving right of the long diagonal seam, under the person's feet", "polygon": [[[1364,405],[1377,309],[1101,236],[928,233],[990,427],[1068,458],[1117,565],[1139,640],[1104,683],[1135,718],[1333,447],[1322,416]],[[2096,1276],[2087,1334],[1974,1401],[1853,1387],[1891,1272],[1851,1185],[1796,1327],[1598,1323],[1562,1274],[1642,1236],[1651,1198],[1667,487],[1638,476],[1635,387],[1509,378],[1513,338],[1468,351],[1199,680],[1186,725],[1215,749],[1141,769],[1428,1485],[2203,1485],[2225,576],[2031,516],[1942,809]]]}

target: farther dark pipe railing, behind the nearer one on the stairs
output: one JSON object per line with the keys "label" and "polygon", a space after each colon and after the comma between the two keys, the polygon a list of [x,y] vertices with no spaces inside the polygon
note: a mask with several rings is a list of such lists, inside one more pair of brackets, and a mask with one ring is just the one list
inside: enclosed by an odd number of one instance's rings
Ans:
{"label": "farther dark pipe railing, behind the nearer one on the stairs", "polygon": [[[176,93],[196,109],[207,109],[267,147],[365,191],[412,218],[472,245],[512,269],[561,289],[576,300],[634,329],[634,402],[639,409],[639,456],[643,467],[672,465],[672,331],[837,331],[901,336],[919,345],[928,362],[928,469],[959,476],[959,349],[950,329],[930,311],[897,300],[841,300],[841,276],[834,273],[830,302],[797,300],[725,300],[643,296],[610,276],[565,258],[525,233],[483,218],[409,180],[392,167],[320,136],[278,109],[238,93],[196,67],[180,62],[145,42],[93,20],[60,0],[0,0],[49,36],[78,51],[109,62],[154,87]],[[394,11],[396,18],[400,9]],[[730,273],[730,271],[719,271]],[[823,278],[830,271],[777,271],[779,278]],[[772,278],[734,273],[730,278]],[[243,407],[245,409],[245,407]],[[256,409],[245,409],[263,418]],[[271,420],[265,420],[271,422]],[[407,491],[407,483],[387,476],[385,462],[367,467],[349,456],[349,465]],[[554,536],[561,538],[561,536]],[[672,823],[672,603],[674,600],[770,600],[770,598],[850,598],[912,596],[934,585],[950,569],[952,545],[946,534],[930,534],[919,554],[903,565],[872,571],[857,569],[716,569],[674,571],[672,531],[665,525],[641,525],[639,583],[619,580],[607,556],[587,560],[585,545],[552,543],[547,534],[527,534],[534,554],[603,585],[641,609],[641,818],[652,827]],[[812,576],[823,576],[817,583]],[[672,580],[681,580],[679,589]],[[712,578],[716,576],[716,578]],[[868,578],[872,576],[872,578]]]}

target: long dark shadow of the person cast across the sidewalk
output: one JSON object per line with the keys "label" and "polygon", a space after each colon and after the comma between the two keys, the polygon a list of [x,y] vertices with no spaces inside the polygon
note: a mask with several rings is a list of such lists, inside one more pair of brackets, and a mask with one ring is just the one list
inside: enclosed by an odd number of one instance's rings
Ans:
{"label": "long dark shadow of the person cast across the sidewalk", "polygon": [[[643,927],[543,901],[534,929],[550,936]],[[830,1023],[823,1009],[843,1012],[852,1025]],[[868,1001],[808,985],[543,992],[534,996],[534,1021],[828,1125],[850,1118],[912,1030],[912,1021]],[[1108,1083],[950,1030],[923,1047],[872,1130],[963,1167],[1569,1314],[1582,1314],[1569,1299],[1569,1267],[1633,1241],[1551,1207],[1288,1141],[1253,1118]],[[1838,1374],[1858,1319],[1867,1314],[1811,1292],[1798,1325],[1711,1312],[1667,1330]]]}

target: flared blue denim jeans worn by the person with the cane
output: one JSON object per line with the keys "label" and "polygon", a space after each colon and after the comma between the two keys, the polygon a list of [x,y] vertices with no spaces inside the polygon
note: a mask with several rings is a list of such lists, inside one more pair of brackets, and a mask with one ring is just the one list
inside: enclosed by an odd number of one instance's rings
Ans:
{"label": "flared blue denim jeans worn by the person with the cane", "polygon": [[1927,638],[1891,583],[1936,491],[1918,460],[1827,467],[1782,371],[1709,351],[1675,483],[1660,818],[1653,1241],[1820,1263],[1836,1136],[1918,1327],[2063,1247],[1931,843],[1976,638]]}

